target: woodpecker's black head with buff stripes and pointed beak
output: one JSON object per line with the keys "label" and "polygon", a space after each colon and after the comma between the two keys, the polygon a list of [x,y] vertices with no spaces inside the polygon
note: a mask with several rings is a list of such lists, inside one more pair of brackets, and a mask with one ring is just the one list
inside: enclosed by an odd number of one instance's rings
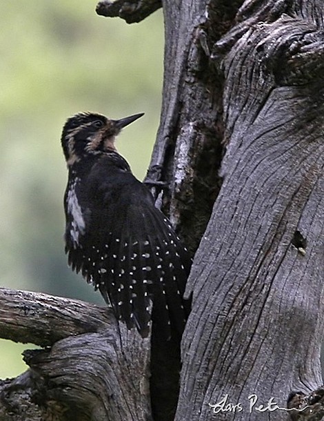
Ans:
{"label": "woodpecker's black head with buff stripes and pointed beak", "polygon": [[72,165],[85,155],[116,150],[115,137],[123,127],[142,115],[143,112],[124,119],[111,120],[101,114],[79,112],[70,117],[63,127],[61,136],[66,162]]}

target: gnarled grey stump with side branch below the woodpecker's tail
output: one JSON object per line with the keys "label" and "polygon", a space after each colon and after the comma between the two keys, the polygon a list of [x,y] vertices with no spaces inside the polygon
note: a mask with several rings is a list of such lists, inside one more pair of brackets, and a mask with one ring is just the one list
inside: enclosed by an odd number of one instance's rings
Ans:
{"label": "gnarled grey stump with side branch below the woodpecker's tail", "polygon": [[0,419],[149,420],[150,340],[94,304],[0,288],[1,337],[30,370],[0,383]]}

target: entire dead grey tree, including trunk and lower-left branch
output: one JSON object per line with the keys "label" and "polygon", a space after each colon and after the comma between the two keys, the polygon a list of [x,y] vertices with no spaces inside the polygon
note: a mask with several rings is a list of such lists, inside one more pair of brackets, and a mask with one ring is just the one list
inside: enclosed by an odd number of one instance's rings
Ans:
{"label": "entire dead grey tree, including trunk and lower-left branch", "polygon": [[[294,420],[320,420],[323,2],[162,3],[163,108],[146,181],[198,248],[176,420],[289,420],[273,403],[288,398],[311,405]],[[102,1],[97,12],[132,23],[159,7]],[[2,384],[1,420],[150,419],[149,342],[95,306],[12,294],[1,336],[30,341],[28,313],[34,343],[51,348],[26,354],[32,370]],[[12,415],[17,395],[43,412]]]}

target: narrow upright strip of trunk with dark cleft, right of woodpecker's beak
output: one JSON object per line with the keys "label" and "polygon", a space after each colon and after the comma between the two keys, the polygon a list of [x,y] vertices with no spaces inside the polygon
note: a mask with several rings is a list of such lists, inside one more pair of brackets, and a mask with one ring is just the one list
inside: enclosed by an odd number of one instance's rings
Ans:
{"label": "narrow upright strip of trunk with dark cleft, right of woodpecker's beak", "polygon": [[[209,59],[213,38],[206,38],[207,3],[163,2],[161,123],[145,179],[167,186],[162,189],[162,199],[159,197],[163,210],[192,254],[219,193],[218,170],[223,154],[222,78],[214,73]],[[219,30],[214,28],[215,32]],[[155,190],[158,195],[159,186]]]}

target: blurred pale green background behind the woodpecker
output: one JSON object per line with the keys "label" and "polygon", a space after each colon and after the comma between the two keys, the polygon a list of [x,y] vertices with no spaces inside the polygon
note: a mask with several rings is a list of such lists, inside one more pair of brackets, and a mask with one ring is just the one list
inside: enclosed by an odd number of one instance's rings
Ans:
{"label": "blurred pale green background behind the woodpecker", "polygon": [[[119,119],[119,152],[143,179],[159,125],[163,20],[99,17],[97,0],[2,1],[0,39],[0,286],[103,304],[64,254],[60,145],[65,119],[81,110]],[[26,370],[23,349],[0,340],[0,378]]]}

